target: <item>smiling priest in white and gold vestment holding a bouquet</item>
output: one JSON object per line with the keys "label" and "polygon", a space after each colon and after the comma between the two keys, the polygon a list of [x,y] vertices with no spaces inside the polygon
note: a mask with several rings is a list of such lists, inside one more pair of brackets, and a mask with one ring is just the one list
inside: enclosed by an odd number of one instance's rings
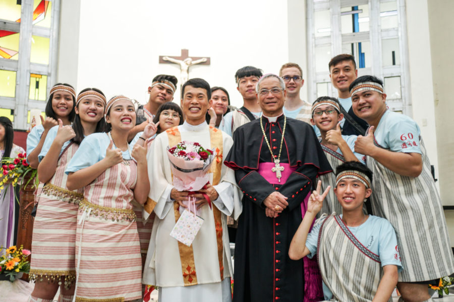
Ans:
{"label": "smiling priest in white and gold vestment holding a bouquet", "polygon": [[[234,171],[223,165],[233,140],[221,130],[208,126],[205,113],[210,99],[209,84],[191,79],[182,87],[181,106],[186,117],[183,125],[159,134],[148,152],[151,189],[144,205],[145,218],[154,210],[156,217],[145,262],[143,283],[159,286],[159,301],[231,301],[231,263],[226,215],[241,213],[241,191]],[[206,190],[212,207],[202,194],[195,194],[198,215],[204,219],[191,246],[169,234],[180,217],[188,192],[172,185],[167,146],[193,141],[215,149],[209,173],[212,181]],[[187,202],[186,202],[187,204]]]}

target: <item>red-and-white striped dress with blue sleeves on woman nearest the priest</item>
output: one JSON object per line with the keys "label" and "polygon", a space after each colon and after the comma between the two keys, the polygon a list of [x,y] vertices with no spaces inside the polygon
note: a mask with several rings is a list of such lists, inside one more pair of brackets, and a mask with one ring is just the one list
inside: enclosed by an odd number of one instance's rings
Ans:
{"label": "red-and-white striped dress with blue sleeves on woman nearest the priest", "polygon": [[[100,161],[108,144],[106,133],[87,136],[66,172]],[[128,150],[123,158],[84,187],[76,235],[76,301],[117,302],[142,295],[139,235],[131,203],[137,164]]]}

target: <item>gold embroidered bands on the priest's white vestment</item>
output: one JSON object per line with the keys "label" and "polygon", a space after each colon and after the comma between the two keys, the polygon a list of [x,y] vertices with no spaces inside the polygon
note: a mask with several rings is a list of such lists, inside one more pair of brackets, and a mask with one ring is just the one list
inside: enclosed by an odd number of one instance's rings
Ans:
{"label": "gold embroidered bands on the priest's white vestment", "polygon": [[[220,181],[220,175],[222,170],[222,131],[210,126],[210,142],[211,149],[215,149],[216,157],[210,167],[209,173],[213,173],[212,185],[217,185]],[[168,145],[175,146],[181,141],[181,133],[178,127],[173,127],[165,131],[168,136]],[[206,146],[205,146],[206,147]],[[151,200],[151,199],[150,199]],[[154,202],[154,201],[153,201]],[[154,206],[153,206],[154,207]],[[174,201],[174,214],[175,222],[180,218],[180,205],[177,201]],[[217,242],[217,256],[219,260],[219,273],[221,280],[223,279],[223,242],[222,242],[222,214],[215,207],[212,206],[214,223],[216,228],[216,242]],[[191,246],[187,246],[181,242],[178,242],[178,248],[180,251],[181,268],[183,274],[183,280],[185,286],[197,284],[197,274],[194,262],[194,251]]]}

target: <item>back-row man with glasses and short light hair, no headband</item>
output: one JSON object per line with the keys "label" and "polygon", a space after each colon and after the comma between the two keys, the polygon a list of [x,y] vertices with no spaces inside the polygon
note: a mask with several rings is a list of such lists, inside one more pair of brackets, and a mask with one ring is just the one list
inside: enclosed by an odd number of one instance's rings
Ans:
{"label": "back-row man with glasses and short light hair, no headband", "polygon": [[297,63],[286,63],[280,67],[279,77],[286,84],[286,103],[283,113],[287,117],[296,118],[300,121],[310,123],[311,104],[300,98],[300,90],[304,85],[303,70]]}

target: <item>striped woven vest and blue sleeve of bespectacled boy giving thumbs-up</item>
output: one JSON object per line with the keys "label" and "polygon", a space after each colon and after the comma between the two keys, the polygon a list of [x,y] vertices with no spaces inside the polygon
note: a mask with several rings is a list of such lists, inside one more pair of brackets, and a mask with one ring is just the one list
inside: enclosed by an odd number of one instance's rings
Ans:
{"label": "striped woven vest and blue sleeve of bespectacled boy giving thumbs-up", "polygon": [[[342,138],[347,142],[349,145],[350,149],[353,151],[355,156],[358,158],[358,160],[364,164],[363,161],[363,156],[355,153],[355,141],[358,136],[356,135],[342,135]],[[319,212],[320,216],[321,214],[331,214],[332,212],[336,213],[342,213],[342,206],[341,204],[337,201],[336,194],[334,193],[333,188],[336,187],[336,175],[335,175],[335,170],[336,167],[339,165],[342,165],[345,163],[345,158],[344,155],[342,155],[341,149],[337,148],[337,150],[331,150],[327,146],[323,145],[321,143],[321,137],[319,137],[320,145],[323,149],[323,152],[326,155],[326,158],[328,159],[329,165],[331,166],[332,172],[326,173],[320,176],[321,180],[321,192],[324,192],[324,190],[328,187],[331,186],[331,189],[328,192],[328,195],[326,195],[325,200],[323,201],[323,206]]]}

